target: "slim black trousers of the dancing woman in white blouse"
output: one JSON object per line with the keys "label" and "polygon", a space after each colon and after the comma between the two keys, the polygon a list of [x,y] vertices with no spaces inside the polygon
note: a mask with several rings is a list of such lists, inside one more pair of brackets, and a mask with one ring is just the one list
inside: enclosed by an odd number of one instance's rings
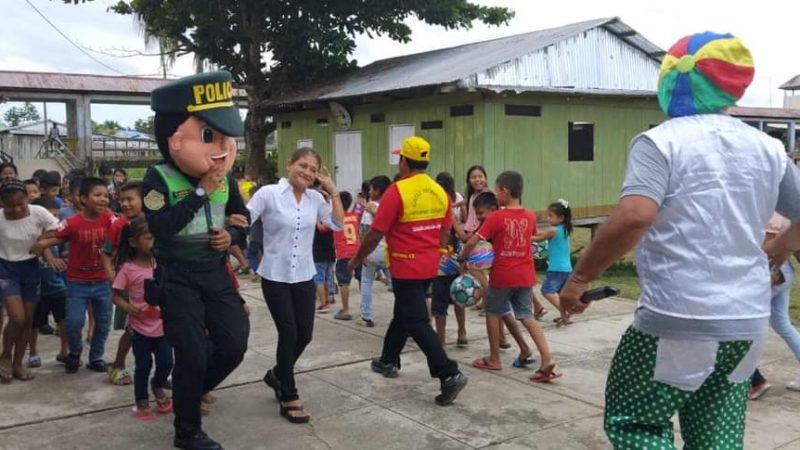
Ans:
{"label": "slim black trousers of the dancing woman in white blouse", "polygon": [[311,342],[317,290],[314,280],[279,283],[261,279],[264,300],[278,329],[278,354],[275,376],[281,382],[281,401],[297,400],[294,364]]}

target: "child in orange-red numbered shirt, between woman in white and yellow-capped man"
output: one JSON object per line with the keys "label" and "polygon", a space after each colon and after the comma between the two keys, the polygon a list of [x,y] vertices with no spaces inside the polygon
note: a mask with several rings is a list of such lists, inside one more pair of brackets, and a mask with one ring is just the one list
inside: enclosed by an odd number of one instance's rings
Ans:
{"label": "child in orange-red numbered shirt, between woman in white and yellow-capped man", "polygon": [[[339,193],[342,199],[342,208],[345,211],[350,209],[353,197],[349,192]],[[342,231],[333,232],[333,243],[336,248],[336,282],[339,284],[339,291],[342,294],[342,309],[333,316],[337,320],[353,320],[350,314],[350,272],[347,271],[347,264],[350,258],[355,256],[358,247],[361,245],[358,228],[361,216],[355,212],[345,212],[342,221]]]}

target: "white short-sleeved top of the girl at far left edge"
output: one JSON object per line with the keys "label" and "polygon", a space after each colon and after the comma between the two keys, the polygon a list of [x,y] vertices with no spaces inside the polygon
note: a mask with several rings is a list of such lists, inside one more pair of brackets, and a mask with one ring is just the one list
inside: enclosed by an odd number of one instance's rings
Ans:
{"label": "white short-sleeved top of the girl at far left edge", "polygon": [[8,220],[0,210],[0,259],[26,261],[36,258],[31,247],[45,231],[58,228],[58,219],[38,205],[30,205],[30,215],[24,219]]}

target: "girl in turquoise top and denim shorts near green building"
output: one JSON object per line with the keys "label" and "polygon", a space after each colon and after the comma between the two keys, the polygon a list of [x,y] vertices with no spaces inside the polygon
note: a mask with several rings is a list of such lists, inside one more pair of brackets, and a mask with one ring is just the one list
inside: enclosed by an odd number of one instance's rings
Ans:
{"label": "girl in turquoise top and denim shorts near green building", "polygon": [[549,256],[547,261],[547,275],[542,283],[542,295],[556,309],[561,316],[554,319],[557,326],[569,325],[569,313],[561,309],[558,294],[566,284],[572,273],[572,260],[570,259],[570,239],[572,234],[572,210],[564,199],[558,199],[547,207],[547,228],[533,237],[534,241],[547,241]]}

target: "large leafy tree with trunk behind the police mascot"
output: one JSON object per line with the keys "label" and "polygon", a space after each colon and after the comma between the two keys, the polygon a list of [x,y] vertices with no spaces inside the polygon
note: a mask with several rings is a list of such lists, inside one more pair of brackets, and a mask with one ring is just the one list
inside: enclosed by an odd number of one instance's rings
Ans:
{"label": "large leafy tree with trunk behind the police mascot", "polygon": [[[175,53],[194,53],[229,70],[247,93],[252,149],[264,149],[275,128],[265,102],[356,68],[356,36],[409,42],[410,18],[459,29],[513,17],[506,8],[468,0],[118,0],[110,9],[134,15],[147,36],[169,40]],[[263,151],[250,152],[249,173],[261,173],[265,165]]]}

